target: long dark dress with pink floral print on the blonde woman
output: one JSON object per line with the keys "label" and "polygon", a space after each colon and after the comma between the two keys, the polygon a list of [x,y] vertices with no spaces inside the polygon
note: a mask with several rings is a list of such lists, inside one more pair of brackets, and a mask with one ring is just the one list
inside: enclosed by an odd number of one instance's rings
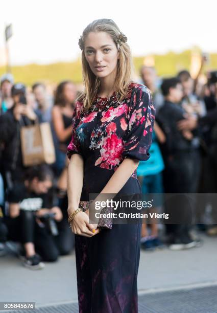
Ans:
{"label": "long dark dress with pink floral print on the blonde woman", "polygon": [[[103,106],[104,100],[95,99],[86,111],[77,101],[74,111],[67,155],[79,153],[84,160],[82,202],[102,191],[125,158],[150,157],[155,109],[148,88],[131,83],[123,101],[113,97]],[[136,171],[120,193],[141,193]],[[141,223],[100,219],[99,227],[91,238],[75,235],[79,312],[136,313]]]}

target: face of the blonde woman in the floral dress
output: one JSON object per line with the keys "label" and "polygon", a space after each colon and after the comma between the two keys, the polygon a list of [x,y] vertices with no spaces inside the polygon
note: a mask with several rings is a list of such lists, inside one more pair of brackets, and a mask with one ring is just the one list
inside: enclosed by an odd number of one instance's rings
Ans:
{"label": "face of the blonde woman in the floral dress", "polygon": [[116,72],[119,53],[108,33],[90,32],[85,39],[84,53],[95,76],[104,78]]}

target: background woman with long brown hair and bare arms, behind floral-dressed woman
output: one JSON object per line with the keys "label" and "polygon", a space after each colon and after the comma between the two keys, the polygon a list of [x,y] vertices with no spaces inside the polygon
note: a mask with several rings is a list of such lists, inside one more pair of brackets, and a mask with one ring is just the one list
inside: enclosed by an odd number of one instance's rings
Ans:
{"label": "background woman with long brown hair and bare arms, behind floral-dressed woman", "polygon": [[54,127],[54,142],[56,148],[55,174],[58,178],[58,206],[60,207],[63,219],[60,223],[59,232],[65,239],[66,254],[74,248],[75,238],[71,234],[67,221],[67,146],[71,138],[71,122],[74,113],[74,104],[77,96],[76,86],[70,80],[62,81],[56,90],[55,102],[52,111]]}

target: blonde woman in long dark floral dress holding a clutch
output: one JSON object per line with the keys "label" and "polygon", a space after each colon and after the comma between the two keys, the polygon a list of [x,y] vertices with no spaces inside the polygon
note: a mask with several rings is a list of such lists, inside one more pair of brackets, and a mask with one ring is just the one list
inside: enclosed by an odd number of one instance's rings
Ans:
{"label": "blonde woman in long dark floral dress holding a clutch", "polygon": [[85,90],[67,152],[79,312],[136,313],[141,223],[115,223],[108,214],[91,222],[89,194],[141,193],[136,168],[150,157],[155,110],[149,90],[131,81],[127,37],[113,20],[90,23],[79,47]]}

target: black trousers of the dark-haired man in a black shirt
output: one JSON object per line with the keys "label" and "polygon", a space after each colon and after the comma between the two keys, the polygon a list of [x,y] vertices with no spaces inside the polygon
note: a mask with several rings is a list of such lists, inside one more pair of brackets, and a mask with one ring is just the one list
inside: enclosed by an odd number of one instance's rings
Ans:
{"label": "black trousers of the dark-haired man in a black shirt", "polygon": [[[179,151],[165,162],[164,190],[165,193],[195,194],[198,192],[201,173],[201,155],[198,149]],[[185,196],[176,196],[174,201],[165,205],[166,212],[174,216],[176,223],[167,224],[166,232],[176,237],[185,236],[196,216],[195,199]],[[180,217],[180,218],[179,218]]]}

